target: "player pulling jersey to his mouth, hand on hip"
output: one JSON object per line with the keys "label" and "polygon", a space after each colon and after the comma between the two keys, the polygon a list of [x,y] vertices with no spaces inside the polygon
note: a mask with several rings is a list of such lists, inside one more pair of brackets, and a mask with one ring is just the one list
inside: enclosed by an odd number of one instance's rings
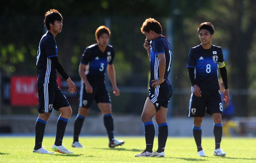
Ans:
{"label": "player pulling jersey to his mouth, hand on hip", "polygon": [[[145,128],[146,149],[135,157],[164,157],[168,136],[167,105],[173,92],[172,84],[168,80],[172,63],[172,49],[170,43],[162,35],[162,26],[157,20],[146,19],[140,30],[146,35],[143,46],[147,50],[150,60],[151,74],[148,96],[141,115]],[[152,121],[154,116],[158,124],[158,149],[155,152],[152,150],[155,136]]]}

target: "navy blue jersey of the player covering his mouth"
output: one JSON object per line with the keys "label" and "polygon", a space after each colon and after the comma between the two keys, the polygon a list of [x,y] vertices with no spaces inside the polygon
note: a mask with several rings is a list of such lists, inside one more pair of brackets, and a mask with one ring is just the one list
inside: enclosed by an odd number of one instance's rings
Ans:
{"label": "navy blue jersey of the player covering his mouth", "polygon": [[152,85],[152,80],[159,80],[159,60],[157,55],[159,53],[165,54],[165,75],[164,79],[165,81],[158,85],[157,87],[165,87],[165,86],[170,86],[171,83],[168,80],[168,75],[170,73],[170,67],[172,64],[172,48],[170,43],[166,40],[165,37],[158,37],[156,39],[150,40],[150,67],[151,67],[151,73],[150,73],[150,80],[149,80],[149,85],[151,87]]}

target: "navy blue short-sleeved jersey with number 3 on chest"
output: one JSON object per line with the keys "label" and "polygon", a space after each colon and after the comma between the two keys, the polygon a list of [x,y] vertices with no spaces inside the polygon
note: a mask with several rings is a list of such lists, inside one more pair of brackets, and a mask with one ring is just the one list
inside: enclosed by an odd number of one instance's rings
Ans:
{"label": "navy blue short-sleeved jersey with number 3 on chest", "polygon": [[105,71],[113,64],[114,49],[107,45],[105,52],[101,52],[98,43],[88,46],[81,57],[80,63],[86,65],[85,74],[91,85],[104,84]]}

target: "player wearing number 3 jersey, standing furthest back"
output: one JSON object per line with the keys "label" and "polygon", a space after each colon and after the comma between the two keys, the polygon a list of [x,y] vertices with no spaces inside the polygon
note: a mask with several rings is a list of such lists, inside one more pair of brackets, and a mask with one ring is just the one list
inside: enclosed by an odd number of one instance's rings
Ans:
{"label": "player wearing number 3 jersey, standing furthest back", "polygon": [[97,43],[88,46],[82,55],[79,64],[79,75],[81,77],[81,90],[79,97],[78,114],[74,123],[74,141],[72,147],[84,148],[78,141],[78,137],[92,102],[98,104],[103,115],[104,126],[109,138],[109,147],[116,147],[124,144],[123,140],[114,139],[113,118],[111,103],[105,85],[105,71],[108,71],[109,79],[113,87],[113,93],[119,96],[120,92],[116,86],[114,71],[114,49],[108,45],[110,30],[108,27],[100,26],[95,31]]}

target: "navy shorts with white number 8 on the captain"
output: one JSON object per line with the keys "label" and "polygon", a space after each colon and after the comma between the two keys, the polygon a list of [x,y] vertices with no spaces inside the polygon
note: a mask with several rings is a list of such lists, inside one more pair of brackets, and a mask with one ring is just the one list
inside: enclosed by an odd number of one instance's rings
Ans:
{"label": "navy shorts with white number 8 on the captain", "polygon": [[219,91],[201,93],[201,97],[197,97],[193,94],[192,88],[191,91],[188,117],[204,117],[205,113],[210,115],[214,113],[222,114],[223,106]]}

